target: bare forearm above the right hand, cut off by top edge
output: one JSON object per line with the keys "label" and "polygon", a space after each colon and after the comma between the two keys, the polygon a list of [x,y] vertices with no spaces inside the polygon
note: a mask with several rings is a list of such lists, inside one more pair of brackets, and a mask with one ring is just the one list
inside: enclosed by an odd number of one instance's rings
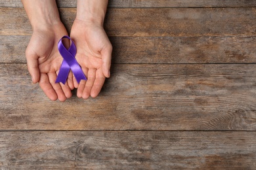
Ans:
{"label": "bare forearm above the right hand, cut off by top edge", "polygon": [[76,19],[103,25],[108,0],[77,0]]}

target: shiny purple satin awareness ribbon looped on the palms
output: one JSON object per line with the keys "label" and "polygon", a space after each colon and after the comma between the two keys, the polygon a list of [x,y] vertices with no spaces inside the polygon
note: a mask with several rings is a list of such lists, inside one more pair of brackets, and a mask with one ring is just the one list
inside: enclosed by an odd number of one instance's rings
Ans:
{"label": "shiny purple satin awareness ribbon looped on the palms", "polygon": [[64,36],[58,42],[58,51],[63,58],[62,65],[60,66],[60,71],[58,72],[57,79],[55,83],[62,82],[65,84],[68,73],[70,73],[70,69],[72,70],[75,79],[79,83],[80,80],[87,80],[85,74],[83,73],[79,63],[77,63],[75,59],[76,47],[75,43],[72,41],[70,48],[67,50],[66,47],[62,44],[62,39],[70,39],[68,36]]}

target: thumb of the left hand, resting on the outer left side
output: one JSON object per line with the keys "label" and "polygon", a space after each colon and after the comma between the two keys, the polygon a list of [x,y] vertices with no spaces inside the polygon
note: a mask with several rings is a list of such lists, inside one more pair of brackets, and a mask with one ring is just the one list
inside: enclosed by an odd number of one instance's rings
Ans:
{"label": "thumb of the left hand, resting on the outer left side", "polygon": [[38,68],[38,56],[34,53],[31,52],[30,50],[26,50],[26,58],[27,58],[27,63],[28,63],[28,72],[30,72],[30,75],[32,76],[32,82],[37,83],[39,82],[39,68]]}

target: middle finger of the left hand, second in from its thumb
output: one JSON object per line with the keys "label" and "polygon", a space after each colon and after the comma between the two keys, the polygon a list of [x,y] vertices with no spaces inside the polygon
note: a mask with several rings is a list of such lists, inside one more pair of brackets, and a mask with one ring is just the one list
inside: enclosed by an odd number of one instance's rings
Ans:
{"label": "middle finger of the left hand, second in from its thumb", "polygon": [[57,78],[56,73],[48,73],[47,75],[49,76],[49,82],[51,83],[51,86],[53,87],[54,91],[58,96],[58,100],[65,101],[66,95],[63,92],[62,87],[60,86],[60,83],[55,83],[55,80]]}

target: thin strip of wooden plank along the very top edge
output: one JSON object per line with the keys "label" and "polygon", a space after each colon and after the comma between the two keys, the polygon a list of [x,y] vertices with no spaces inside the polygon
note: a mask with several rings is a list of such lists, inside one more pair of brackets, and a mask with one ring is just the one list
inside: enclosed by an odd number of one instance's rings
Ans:
{"label": "thin strip of wooden plank along the very top edge", "polygon": [[[77,1],[57,0],[58,7],[76,7]],[[0,0],[0,7],[22,7],[20,0]],[[111,0],[110,8],[155,7],[256,7],[254,0]]]}

